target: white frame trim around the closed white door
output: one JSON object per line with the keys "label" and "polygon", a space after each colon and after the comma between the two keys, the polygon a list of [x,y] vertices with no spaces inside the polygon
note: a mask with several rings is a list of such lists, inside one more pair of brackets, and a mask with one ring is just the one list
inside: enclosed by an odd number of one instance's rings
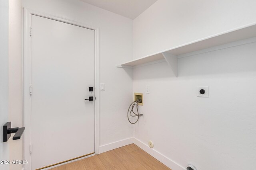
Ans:
{"label": "white frame trim around the closed white door", "polygon": [[[81,23],[78,21],[68,20],[66,18],[54,16],[52,14],[46,14],[35,10],[24,8],[24,54],[23,54],[23,115],[24,115],[24,160],[28,160],[28,164],[24,165],[25,170],[31,169],[31,97],[30,97],[30,84],[31,84],[31,37],[30,37],[30,26],[31,26],[31,15],[41,16],[44,18],[69,23],[72,25],[92,29],[95,32],[95,97],[96,100],[94,105],[95,115],[95,154],[99,154],[99,27]],[[33,32],[33,30],[32,30]]]}

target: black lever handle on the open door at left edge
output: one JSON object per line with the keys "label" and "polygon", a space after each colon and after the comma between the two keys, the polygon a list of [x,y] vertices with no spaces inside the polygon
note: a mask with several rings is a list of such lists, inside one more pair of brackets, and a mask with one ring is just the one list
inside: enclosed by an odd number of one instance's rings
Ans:
{"label": "black lever handle on the open door at left edge", "polygon": [[23,132],[25,130],[25,127],[14,127],[11,128],[11,122],[7,122],[4,124],[3,127],[3,139],[4,142],[7,142],[8,139],[11,137],[11,133],[15,133],[15,135],[13,136],[12,140],[17,140],[20,139],[20,137],[22,136]]}

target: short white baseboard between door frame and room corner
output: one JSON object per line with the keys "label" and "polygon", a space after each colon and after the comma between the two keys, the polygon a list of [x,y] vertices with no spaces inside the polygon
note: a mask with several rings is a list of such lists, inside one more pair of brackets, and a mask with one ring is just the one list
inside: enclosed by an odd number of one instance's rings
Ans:
{"label": "short white baseboard between door frame and room corner", "polygon": [[116,142],[113,142],[113,143],[108,143],[106,145],[100,146],[99,152],[100,153],[107,152],[109,150],[120,148],[120,147],[123,147],[125,145],[132,144],[132,143],[133,143],[133,137],[132,138],[123,139],[121,141],[116,141]]}

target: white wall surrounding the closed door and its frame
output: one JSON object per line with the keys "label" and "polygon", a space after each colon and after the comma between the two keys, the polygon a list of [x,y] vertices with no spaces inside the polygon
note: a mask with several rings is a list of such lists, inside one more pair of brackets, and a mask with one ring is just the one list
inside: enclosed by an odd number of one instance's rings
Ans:
{"label": "white wall surrounding the closed door and its frame", "polygon": [[[13,4],[16,9],[10,24],[20,29],[18,6]],[[116,68],[116,63],[132,59],[132,20],[80,0],[22,0],[22,6],[100,28],[100,82],[106,84],[106,90],[100,92],[100,146],[132,137],[133,126],[126,118],[127,103],[132,101],[132,70]],[[10,88],[14,90],[10,92],[10,117],[15,125],[22,126],[21,38],[17,28],[10,29],[10,51],[16,50],[10,56]],[[22,158],[22,141],[11,143],[10,158]]]}

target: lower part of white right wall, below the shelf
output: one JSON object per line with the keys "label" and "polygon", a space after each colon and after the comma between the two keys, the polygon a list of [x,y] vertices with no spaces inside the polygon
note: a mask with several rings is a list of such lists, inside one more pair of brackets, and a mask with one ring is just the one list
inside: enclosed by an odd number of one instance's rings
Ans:
{"label": "lower part of white right wall, below the shelf", "polygon": [[[166,62],[135,68],[134,92],[144,93],[135,138],[184,168],[254,169],[255,55],[256,42],[184,57],[178,78]],[[198,98],[197,86],[210,97]]]}

